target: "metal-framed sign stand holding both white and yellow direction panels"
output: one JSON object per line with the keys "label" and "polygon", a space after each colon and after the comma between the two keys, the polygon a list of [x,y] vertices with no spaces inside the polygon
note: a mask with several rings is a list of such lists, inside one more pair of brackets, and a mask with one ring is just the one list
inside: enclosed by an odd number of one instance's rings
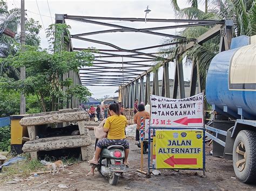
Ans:
{"label": "metal-framed sign stand holding both white and yellow direction panels", "polygon": [[[150,169],[192,169],[205,175],[205,129],[203,93],[183,99],[151,95],[148,136],[155,134],[156,165]],[[151,133],[153,131],[153,133]]]}

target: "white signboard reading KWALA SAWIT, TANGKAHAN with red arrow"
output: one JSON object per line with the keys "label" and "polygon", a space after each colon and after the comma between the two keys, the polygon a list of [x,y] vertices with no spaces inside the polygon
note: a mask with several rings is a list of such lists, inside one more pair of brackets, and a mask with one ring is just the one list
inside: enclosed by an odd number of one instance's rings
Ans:
{"label": "white signboard reading KWALA SAWIT, TANGKAHAN with red arrow", "polygon": [[203,127],[204,94],[183,99],[150,95],[151,127]]}

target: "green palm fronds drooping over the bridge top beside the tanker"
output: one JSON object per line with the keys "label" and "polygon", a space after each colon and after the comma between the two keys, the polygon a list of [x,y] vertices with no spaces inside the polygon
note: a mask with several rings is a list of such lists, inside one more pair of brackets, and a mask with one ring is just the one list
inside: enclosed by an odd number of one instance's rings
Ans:
{"label": "green palm fronds drooping over the bridge top beside the tanker", "polygon": [[[256,3],[255,0],[247,0],[246,3],[241,0],[226,0],[226,1],[207,1],[205,0],[205,12],[198,9],[199,1],[190,0],[191,6],[188,8],[180,9],[177,0],[171,0],[173,10],[176,12],[177,18],[182,19],[200,19],[200,20],[222,20],[233,19],[234,20],[234,34],[236,36],[247,35],[252,36],[256,34]],[[211,3],[208,6],[208,3]],[[208,9],[211,8],[211,9]],[[212,26],[196,26],[188,27],[178,34],[183,37],[197,38],[201,34],[205,33]],[[171,43],[179,41],[177,39],[168,39],[165,43]],[[184,42],[186,43],[186,42]],[[204,44],[196,44],[191,49],[188,49],[182,55],[180,60],[186,58],[187,64],[191,64],[191,60],[199,63],[199,73],[202,77],[202,89],[205,86],[206,71],[210,65],[213,57],[219,52],[220,37],[214,37],[208,40]],[[179,48],[184,44],[180,44],[176,47],[168,47],[161,49],[160,52],[164,52],[161,56],[171,56],[175,58]]]}

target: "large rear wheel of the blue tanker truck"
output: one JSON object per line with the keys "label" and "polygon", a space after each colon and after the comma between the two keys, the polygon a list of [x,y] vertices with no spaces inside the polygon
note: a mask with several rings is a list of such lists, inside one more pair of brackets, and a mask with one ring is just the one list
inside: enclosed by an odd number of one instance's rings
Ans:
{"label": "large rear wheel of the blue tanker truck", "polygon": [[233,146],[233,167],[241,182],[256,180],[256,132],[242,130],[238,133]]}

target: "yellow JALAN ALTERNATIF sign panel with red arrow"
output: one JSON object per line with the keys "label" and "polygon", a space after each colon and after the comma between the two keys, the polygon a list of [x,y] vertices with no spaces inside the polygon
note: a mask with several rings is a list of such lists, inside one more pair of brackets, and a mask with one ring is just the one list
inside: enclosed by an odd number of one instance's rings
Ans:
{"label": "yellow JALAN ALTERNATIF sign panel with red arrow", "polygon": [[203,168],[203,130],[157,130],[156,168]]}

